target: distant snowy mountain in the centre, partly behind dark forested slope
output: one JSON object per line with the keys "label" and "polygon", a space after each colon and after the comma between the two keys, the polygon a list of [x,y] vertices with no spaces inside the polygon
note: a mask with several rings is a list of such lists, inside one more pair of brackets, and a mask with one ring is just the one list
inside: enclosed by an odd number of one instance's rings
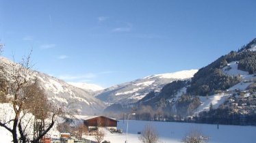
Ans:
{"label": "distant snowy mountain in the centre, partly behind dark forested slope", "polygon": [[185,70],[170,74],[156,74],[131,82],[118,84],[103,90],[97,98],[106,104],[131,104],[147,95],[151,91],[160,91],[165,84],[175,80],[192,78],[197,69]]}

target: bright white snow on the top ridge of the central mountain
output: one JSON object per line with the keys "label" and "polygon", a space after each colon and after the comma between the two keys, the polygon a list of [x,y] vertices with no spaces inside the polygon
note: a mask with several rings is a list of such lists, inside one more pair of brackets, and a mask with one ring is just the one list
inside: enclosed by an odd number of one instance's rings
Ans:
{"label": "bright white snow on the top ridge of the central mountain", "polygon": [[148,78],[153,78],[153,77],[159,77],[159,78],[176,78],[176,79],[186,79],[186,78],[192,78],[194,74],[196,74],[198,70],[197,69],[191,69],[191,70],[184,70],[181,72],[175,72],[175,73],[170,73],[170,74],[156,74],[154,76],[148,77]]}

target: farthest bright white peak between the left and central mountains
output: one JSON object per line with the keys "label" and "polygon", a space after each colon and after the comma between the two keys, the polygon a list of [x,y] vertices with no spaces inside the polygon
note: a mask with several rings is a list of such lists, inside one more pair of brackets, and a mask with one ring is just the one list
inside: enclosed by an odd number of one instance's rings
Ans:
{"label": "farthest bright white peak between the left and central mountains", "polygon": [[71,84],[73,86],[79,87],[80,89],[85,89],[86,91],[101,91],[105,88],[97,85],[97,84],[88,84],[84,82],[68,82],[68,84]]}

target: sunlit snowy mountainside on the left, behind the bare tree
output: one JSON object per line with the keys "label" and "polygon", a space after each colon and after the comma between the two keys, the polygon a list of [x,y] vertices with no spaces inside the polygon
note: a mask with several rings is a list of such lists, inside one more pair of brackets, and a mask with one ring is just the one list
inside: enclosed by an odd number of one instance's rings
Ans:
{"label": "sunlit snowy mountainside on the left, behind the bare tree", "polygon": [[[0,57],[0,62],[10,67],[13,63],[4,57]],[[81,114],[97,114],[105,108],[99,99],[92,96],[90,91],[80,89],[41,72],[34,71],[34,74],[30,76],[38,78],[38,82],[47,93],[48,99],[56,104],[70,105]]]}

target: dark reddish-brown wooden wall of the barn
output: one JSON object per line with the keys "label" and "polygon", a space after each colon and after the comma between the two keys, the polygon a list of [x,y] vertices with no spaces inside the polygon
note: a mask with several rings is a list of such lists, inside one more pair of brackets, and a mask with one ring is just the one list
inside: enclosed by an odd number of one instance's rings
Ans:
{"label": "dark reddish-brown wooden wall of the barn", "polygon": [[104,116],[88,119],[84,121],[84,124],[87,127],[117,127],[117,121],[114,121],[110,118],[105,118]]}

